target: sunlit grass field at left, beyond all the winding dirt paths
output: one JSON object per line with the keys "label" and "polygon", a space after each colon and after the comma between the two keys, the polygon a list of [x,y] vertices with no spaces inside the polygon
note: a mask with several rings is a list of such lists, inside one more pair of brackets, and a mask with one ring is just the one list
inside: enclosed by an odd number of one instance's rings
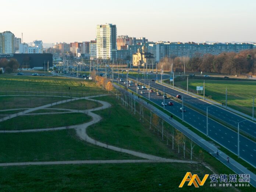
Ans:
{"label": "sunlit grass field at left, beyond all the winding dirt paths", "polygon": [[[56,92],[56,95],[63,96],[83,96],[86,94],[107,93],[97,87],[95,83],[84,79],[67,77],[34,77],[34,76],[14,76],[13,74],[0,75],[0,94],[5,95],[4,91],[36,91],[36,92]],[[70,87],[70,90],[69,90]],[[62,92],[64,92],[62,94]],[[17,94],[17,93],[16,93]]]}

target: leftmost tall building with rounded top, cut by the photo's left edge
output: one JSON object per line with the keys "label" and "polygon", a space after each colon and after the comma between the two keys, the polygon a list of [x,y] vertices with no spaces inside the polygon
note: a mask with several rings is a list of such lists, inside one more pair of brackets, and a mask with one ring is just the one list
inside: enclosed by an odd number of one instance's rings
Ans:
{"label": "leftmost tall building with rounded top, cut by the photo's left edge", "polygon": [[5,31],[0,35],[1,48],[0,52],[3,54],[15,53],[14,48],[14,34],[10,31]]}

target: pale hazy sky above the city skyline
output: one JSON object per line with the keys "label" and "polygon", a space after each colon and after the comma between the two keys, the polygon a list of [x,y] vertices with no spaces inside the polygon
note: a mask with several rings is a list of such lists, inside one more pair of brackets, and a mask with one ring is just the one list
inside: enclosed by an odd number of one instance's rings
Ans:
{"label": "pale hazy sky above the city skyline", "polygon": [[0,32],[24,42],[89,41],[105,23],[150,41],[256,42],[255,0],[8,0],[0,10]]}

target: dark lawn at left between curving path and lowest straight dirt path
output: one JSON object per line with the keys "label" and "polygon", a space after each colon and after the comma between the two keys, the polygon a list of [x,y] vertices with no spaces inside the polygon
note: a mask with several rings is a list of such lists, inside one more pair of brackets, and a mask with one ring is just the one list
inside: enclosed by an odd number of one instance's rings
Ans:
{"label": "dark lawn at left between curving path and lowest straight dirt path", "polygon": [[129,154],[114,152],[86,143],[77,137],[74,129],[0,134],[0,146],[1,163],[140,159]]}

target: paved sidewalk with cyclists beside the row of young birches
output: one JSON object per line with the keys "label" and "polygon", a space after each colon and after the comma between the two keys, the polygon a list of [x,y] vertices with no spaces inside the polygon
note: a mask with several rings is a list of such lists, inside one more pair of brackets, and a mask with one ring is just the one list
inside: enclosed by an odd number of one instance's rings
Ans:
{"label": "paved sidewalk with cyclists beside the row of young birches", "polygon": [[[114,84],[113,86],[116,89],[122,89],[118,85]],[[201,138],[200,136],[195,134],[190,129],[186,128],[184,125],[182,125],[178,121],[176,121],[174,119],[170,120],[169,115],[167,115],[163,111],[157,109],[156,107],[152,106],[151,104],[147,105],[147,102],[145,100],[138,99],[138,97],[135,95],[133,97],[135,97],[135,99],[137,101],[139,100],[140,102],[142,102],[147,109],[151,110],[153,113],[155,113],[159,117],[163,118],[163,120],[165,120],[167,123],[169,123],[170,125],[173,125],[173,127],[178,129],[179,131],[181,131],[185,136],[192,139],[193,142],[195,142],[197,145],[199,145],[200,147],[205,149],[207,152],[209,152],[210,154],[216,153],[216,151],[218,149],[216,146],[214,146],[210,142],[206,141],[205,139]],[[233,170],[237,174],[250,174],[250,184],[253,185],[254,187],[256,187],[256,175],[232,158],[230,158],[230,163],[227,163],[227,157],[228,157],[227,154],[225,154],[224,152],[219,150],[219,156],[216,157],[216,159],[218,159],[221,163],[223,163],[225,166],[229,167],[231,170]],[[224,173],[222,173],[222,174],[224,174]]]}

